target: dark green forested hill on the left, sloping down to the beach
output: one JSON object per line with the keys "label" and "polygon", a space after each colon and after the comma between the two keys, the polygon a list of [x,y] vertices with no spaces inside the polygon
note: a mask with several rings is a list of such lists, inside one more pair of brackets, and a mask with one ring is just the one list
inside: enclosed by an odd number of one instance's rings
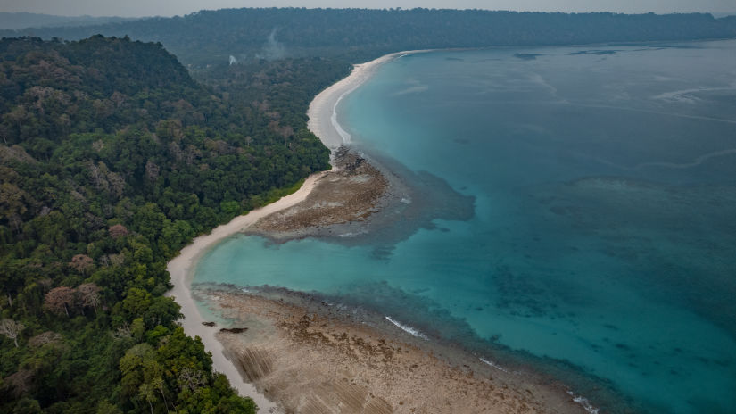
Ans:
{"label": "dark green forested hill on the left, sloping down to the beach", "polygon": [[328,167],[290,111],[213,95],[160,44],[0,41],[0,412],[253,411],[165,269]]}

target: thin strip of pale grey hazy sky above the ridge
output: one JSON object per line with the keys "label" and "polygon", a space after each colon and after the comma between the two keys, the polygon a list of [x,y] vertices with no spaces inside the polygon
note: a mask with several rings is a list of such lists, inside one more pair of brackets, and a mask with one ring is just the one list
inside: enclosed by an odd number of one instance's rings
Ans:
{"label": "thin strip of pale grey hazy sky above the ridge", "polygon": [[736,0],[0,0],[0,12],[173,16],[228,7],[426,7],[542,12],[736,12]]}

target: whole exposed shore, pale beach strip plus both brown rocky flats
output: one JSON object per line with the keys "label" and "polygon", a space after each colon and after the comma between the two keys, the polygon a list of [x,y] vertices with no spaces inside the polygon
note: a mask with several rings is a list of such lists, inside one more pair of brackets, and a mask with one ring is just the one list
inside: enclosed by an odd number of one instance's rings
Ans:
{"label": "whole exposed shore, pale beach strip plus both brown rocky flats", "polygon": [[[424,204],[421,190],[351,148],[351,137],[335,114],[343,97],[377,67],[408,53],[356,65],[348,78],[310,104],[310,130],[332,150],[333,170],[314,174],[293,195],[197,237],[170,261],[174,288],[169,294],[182,307],[182,326],[202,338],[214,368],[239,393],[252,396],[260,412],[585,412],[564,385],[481,360],[384,315],[356,318],[316,296],[284,289],[192,286],[196,262],[230,236],[256,234],[277,243],[308,236],[352,239],[370,233],[374,219],[395,220],[418,211]],[[446,186],[421,178],[415,181]],[[472,216],[472,198],[455,200],[431,213]],[[414,221],[414,228],[431,226],[430,220]],[[194,298],[218,315],[217,322],[203,319]]]}

